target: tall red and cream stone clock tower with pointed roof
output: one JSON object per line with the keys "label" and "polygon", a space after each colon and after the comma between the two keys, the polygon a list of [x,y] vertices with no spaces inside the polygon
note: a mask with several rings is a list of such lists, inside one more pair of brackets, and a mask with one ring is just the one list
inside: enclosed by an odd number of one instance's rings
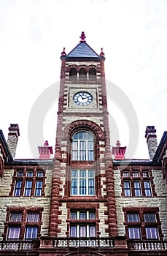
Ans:
{"label": "tall red and cream stone clock tower with pointed roof", "polygon": [[117,236],[105,57],[85,39],[82,32],[61,53],[49,227],[56,238]]}

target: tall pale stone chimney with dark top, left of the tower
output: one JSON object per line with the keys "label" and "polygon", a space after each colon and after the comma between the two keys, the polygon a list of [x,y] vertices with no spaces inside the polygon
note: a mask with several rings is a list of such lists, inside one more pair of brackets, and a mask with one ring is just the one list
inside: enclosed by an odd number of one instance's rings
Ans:
{"label": "tall pale stone chimney with dark top, left of the tower", "polygon": [[15,159],[16,148],[18,145],[18,136],[20,136],[18,124],[10,124],[7,143],[13,159]]}

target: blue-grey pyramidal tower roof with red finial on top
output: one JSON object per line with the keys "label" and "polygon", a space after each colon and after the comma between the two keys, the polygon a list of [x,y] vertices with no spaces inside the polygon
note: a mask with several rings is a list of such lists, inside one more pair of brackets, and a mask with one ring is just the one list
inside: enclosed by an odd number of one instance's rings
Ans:
{"label": "blue-grey pyramidal tower roof with red finial on top", "polygon": [[69,52],[66,60],[93,60],[99,61],[101,55],[98,55],[86,42],[85,33],[82,31],[79,44]]}

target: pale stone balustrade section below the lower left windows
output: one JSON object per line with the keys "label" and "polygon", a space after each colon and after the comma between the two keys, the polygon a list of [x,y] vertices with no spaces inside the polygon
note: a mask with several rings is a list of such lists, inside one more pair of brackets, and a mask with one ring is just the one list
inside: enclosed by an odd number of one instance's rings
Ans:
{"label": "pale stone balustrade section below the lower left windows", "polygon": [[34,250],[39,248],[39,241],[0,241],[0,251],[1,250]]}

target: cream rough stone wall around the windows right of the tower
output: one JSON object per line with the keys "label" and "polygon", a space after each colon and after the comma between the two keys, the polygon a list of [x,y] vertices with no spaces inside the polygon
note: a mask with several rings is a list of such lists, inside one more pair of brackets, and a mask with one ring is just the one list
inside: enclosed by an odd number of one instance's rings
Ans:
{"label": "cream rough stone wall around the windows right of the tower", "polygon": [[123,207],[158,207],[164,240],[167,240],[167,198],[166,184],[160,170],[152,170],[157,197],[121,197],[120,170],[114,170],[114,189],[117,206],[118,235],[125,236]]}

